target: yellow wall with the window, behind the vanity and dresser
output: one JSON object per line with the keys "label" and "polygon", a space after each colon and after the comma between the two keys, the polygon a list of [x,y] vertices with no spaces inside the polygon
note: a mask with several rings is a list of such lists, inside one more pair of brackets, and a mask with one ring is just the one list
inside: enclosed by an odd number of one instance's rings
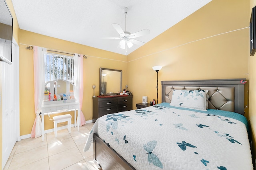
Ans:
{"label": "yellow wall with the window, behind the vanity and dresser", "polygon": [[[48,37],[29,31],[20,30],[20,135],[31,133],[35,119],[34,113],[34,73],[33,50],[27,50],[28,45],[37,45],[86,55],[84,61],[84,98],[82,112],[86,120],[92,120],[92,85],[96,85],[95,94],[99,95],[100,67],[123,70],[123,84],[127,83],[126,56],[95,49],[85,45],[72,43]],[[74,113],[71,113],[74,114]],[[74,121],[74,120],[73,120]],[[45,116],[45,129],[52,129],[53,123]]]}

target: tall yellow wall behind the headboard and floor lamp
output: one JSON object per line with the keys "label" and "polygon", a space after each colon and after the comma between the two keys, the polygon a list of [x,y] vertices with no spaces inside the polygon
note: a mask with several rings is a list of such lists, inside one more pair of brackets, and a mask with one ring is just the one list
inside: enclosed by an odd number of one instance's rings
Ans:
{"label": "tall yellow wall behind the headboard and floor lamp", "polygon": [[156,99],[155,65],[163,66],[158,72],[158,103],[161,80],[250,79],[245,86],[245,105],[250,86],[245,116],[250,121],[256,158],[256,56],[249,57],[248,27],[250,9],[256,2],[251,1],[250,5],[250,0],[213,0],[128,55],[133,106],[142,102],[142,96],[148,96],[148,101]]}

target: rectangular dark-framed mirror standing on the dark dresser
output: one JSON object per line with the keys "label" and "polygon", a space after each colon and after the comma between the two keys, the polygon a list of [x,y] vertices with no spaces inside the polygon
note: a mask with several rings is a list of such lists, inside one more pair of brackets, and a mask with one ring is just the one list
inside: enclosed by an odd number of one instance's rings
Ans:
{"label": "rectangular dark-framed mirror standing on the dark dresser", "polygon": [[100,68],[100,95],[122,92],[122,70]]}

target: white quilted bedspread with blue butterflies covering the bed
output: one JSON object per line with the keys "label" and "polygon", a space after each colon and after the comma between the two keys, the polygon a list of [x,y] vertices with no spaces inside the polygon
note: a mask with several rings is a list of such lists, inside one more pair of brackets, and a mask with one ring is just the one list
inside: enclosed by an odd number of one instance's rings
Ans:
{"label": "white quilted bedspread with blue butterflies covering the bed", "polygon": [[252,170],[246,125],[219,112],[163,103],[104,115],[84,151],[96,133],[137,170]]}

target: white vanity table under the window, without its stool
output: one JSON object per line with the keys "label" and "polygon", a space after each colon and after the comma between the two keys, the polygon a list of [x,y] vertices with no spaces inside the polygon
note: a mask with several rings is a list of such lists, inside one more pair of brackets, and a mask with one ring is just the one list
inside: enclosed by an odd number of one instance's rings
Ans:
{"label": "white vanity table under the window, without its stool", "polygon": [[[74,100],[64,100],[61,101],[51,101],[44,102],[42,106],[42,141],[44,141],[44,115],[57,114],[67,111],[74,111],[74,127],[77,126],[77,130],[79,131],[80,124],[80,109],[79,103],[74,102]],[[77,125],[76,125],[76,110],[77,110]]]}

